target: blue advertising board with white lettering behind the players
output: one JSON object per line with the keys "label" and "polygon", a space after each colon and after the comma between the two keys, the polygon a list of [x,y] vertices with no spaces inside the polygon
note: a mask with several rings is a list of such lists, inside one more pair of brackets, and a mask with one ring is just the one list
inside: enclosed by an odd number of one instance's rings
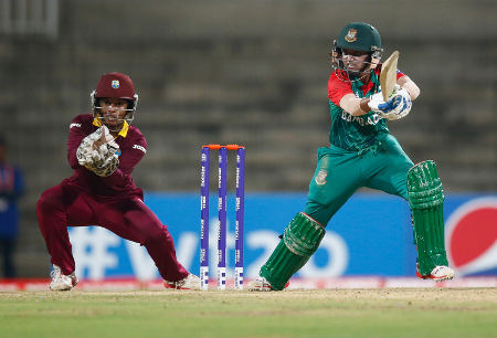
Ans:
{"label": "blue advertising board with white lettering behind the players", "polygon": [[[234,270],[234,196],[228,197],[228,276]],[[178,260],[200,270],[200,198],[197,193],[147,193],[145,202],[171,233]],[[254,278],[277,245],[278,235],[304,209],[305,193],[247,193],[244,268]],[[210,200],[210,275],[215,276],[218,200]],[[459,275],[497,273],[497,198],[446,198],[446,243]],[[159,278],[146,250],[98,226],[71,228],[76,274],[82,278]],[[469,236],[469,237],[468,237]],[[468,239],[470,239],[468,243]],[[388,194],[357,193],[331,219],[318,251],[298,272],[302,277],[414,276],[415,247],[408,203]]]}

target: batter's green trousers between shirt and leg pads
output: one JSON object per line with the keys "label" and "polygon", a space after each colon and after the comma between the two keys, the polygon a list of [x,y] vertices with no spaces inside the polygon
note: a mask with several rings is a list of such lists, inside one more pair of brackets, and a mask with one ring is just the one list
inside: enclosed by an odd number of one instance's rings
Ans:
{"label": "batter's green trousers between shirt and leg pads", "polygon": [[390,134],[363,151],[335,146],[319,148],[305,213],[327,225],[331,216],[362,187],[408,199],[406,177],[414,163]]}

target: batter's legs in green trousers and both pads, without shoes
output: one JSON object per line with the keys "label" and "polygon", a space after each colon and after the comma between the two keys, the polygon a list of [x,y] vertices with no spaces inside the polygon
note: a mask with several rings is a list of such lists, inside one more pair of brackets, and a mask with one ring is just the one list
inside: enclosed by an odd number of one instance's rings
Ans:
{"label": "batter's legs in green trousers and both pads, without shoes", "polygon": [[362,151],[334,146],[318,150],[305,211],[292,220],[282,241],[261,267],[260,275],[273,289],[283,289],[290,276],[306,264],[319,246],[331,216],[362,187],[409,200],[423,276],[429,276],[436,265],[447,265],[443,188],[436,166],[433,161],[414,166],[398,140],[385,134],[378,144]]}

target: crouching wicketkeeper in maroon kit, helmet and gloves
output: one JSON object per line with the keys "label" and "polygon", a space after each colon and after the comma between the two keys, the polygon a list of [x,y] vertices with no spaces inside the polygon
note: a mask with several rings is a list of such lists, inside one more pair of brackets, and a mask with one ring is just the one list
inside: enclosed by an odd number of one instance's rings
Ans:
{"label": "crouching wicketkeeper in maroon kit, helmet and gloves", "polygon": [[138,95],[129,76],[104,74],[92,93],[93,114],[70,126],[67,159],[72,177],[42,193],[36,212],[53,264],[53,291],[73,288],[77,278],[67,226],[99,225],[144,245],[165,286],[200,289],[200,278],[176,258],[166,225],[144,203],[133,169],[147,152],[140,130],[131,126]]}

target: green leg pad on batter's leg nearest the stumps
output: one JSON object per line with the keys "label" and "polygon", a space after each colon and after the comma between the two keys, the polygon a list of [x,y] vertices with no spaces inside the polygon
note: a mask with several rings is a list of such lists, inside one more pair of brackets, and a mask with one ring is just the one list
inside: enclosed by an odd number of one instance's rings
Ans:
{"label": "green leg pad on batter's leg nearest the stumps", "polygon": [[297,271],[319,247],[325,236],[325,229],[307,214],[300,212],[290,221],[283,233],[283,239],[260,275],[271,283],[273,289],[283,289]]}

